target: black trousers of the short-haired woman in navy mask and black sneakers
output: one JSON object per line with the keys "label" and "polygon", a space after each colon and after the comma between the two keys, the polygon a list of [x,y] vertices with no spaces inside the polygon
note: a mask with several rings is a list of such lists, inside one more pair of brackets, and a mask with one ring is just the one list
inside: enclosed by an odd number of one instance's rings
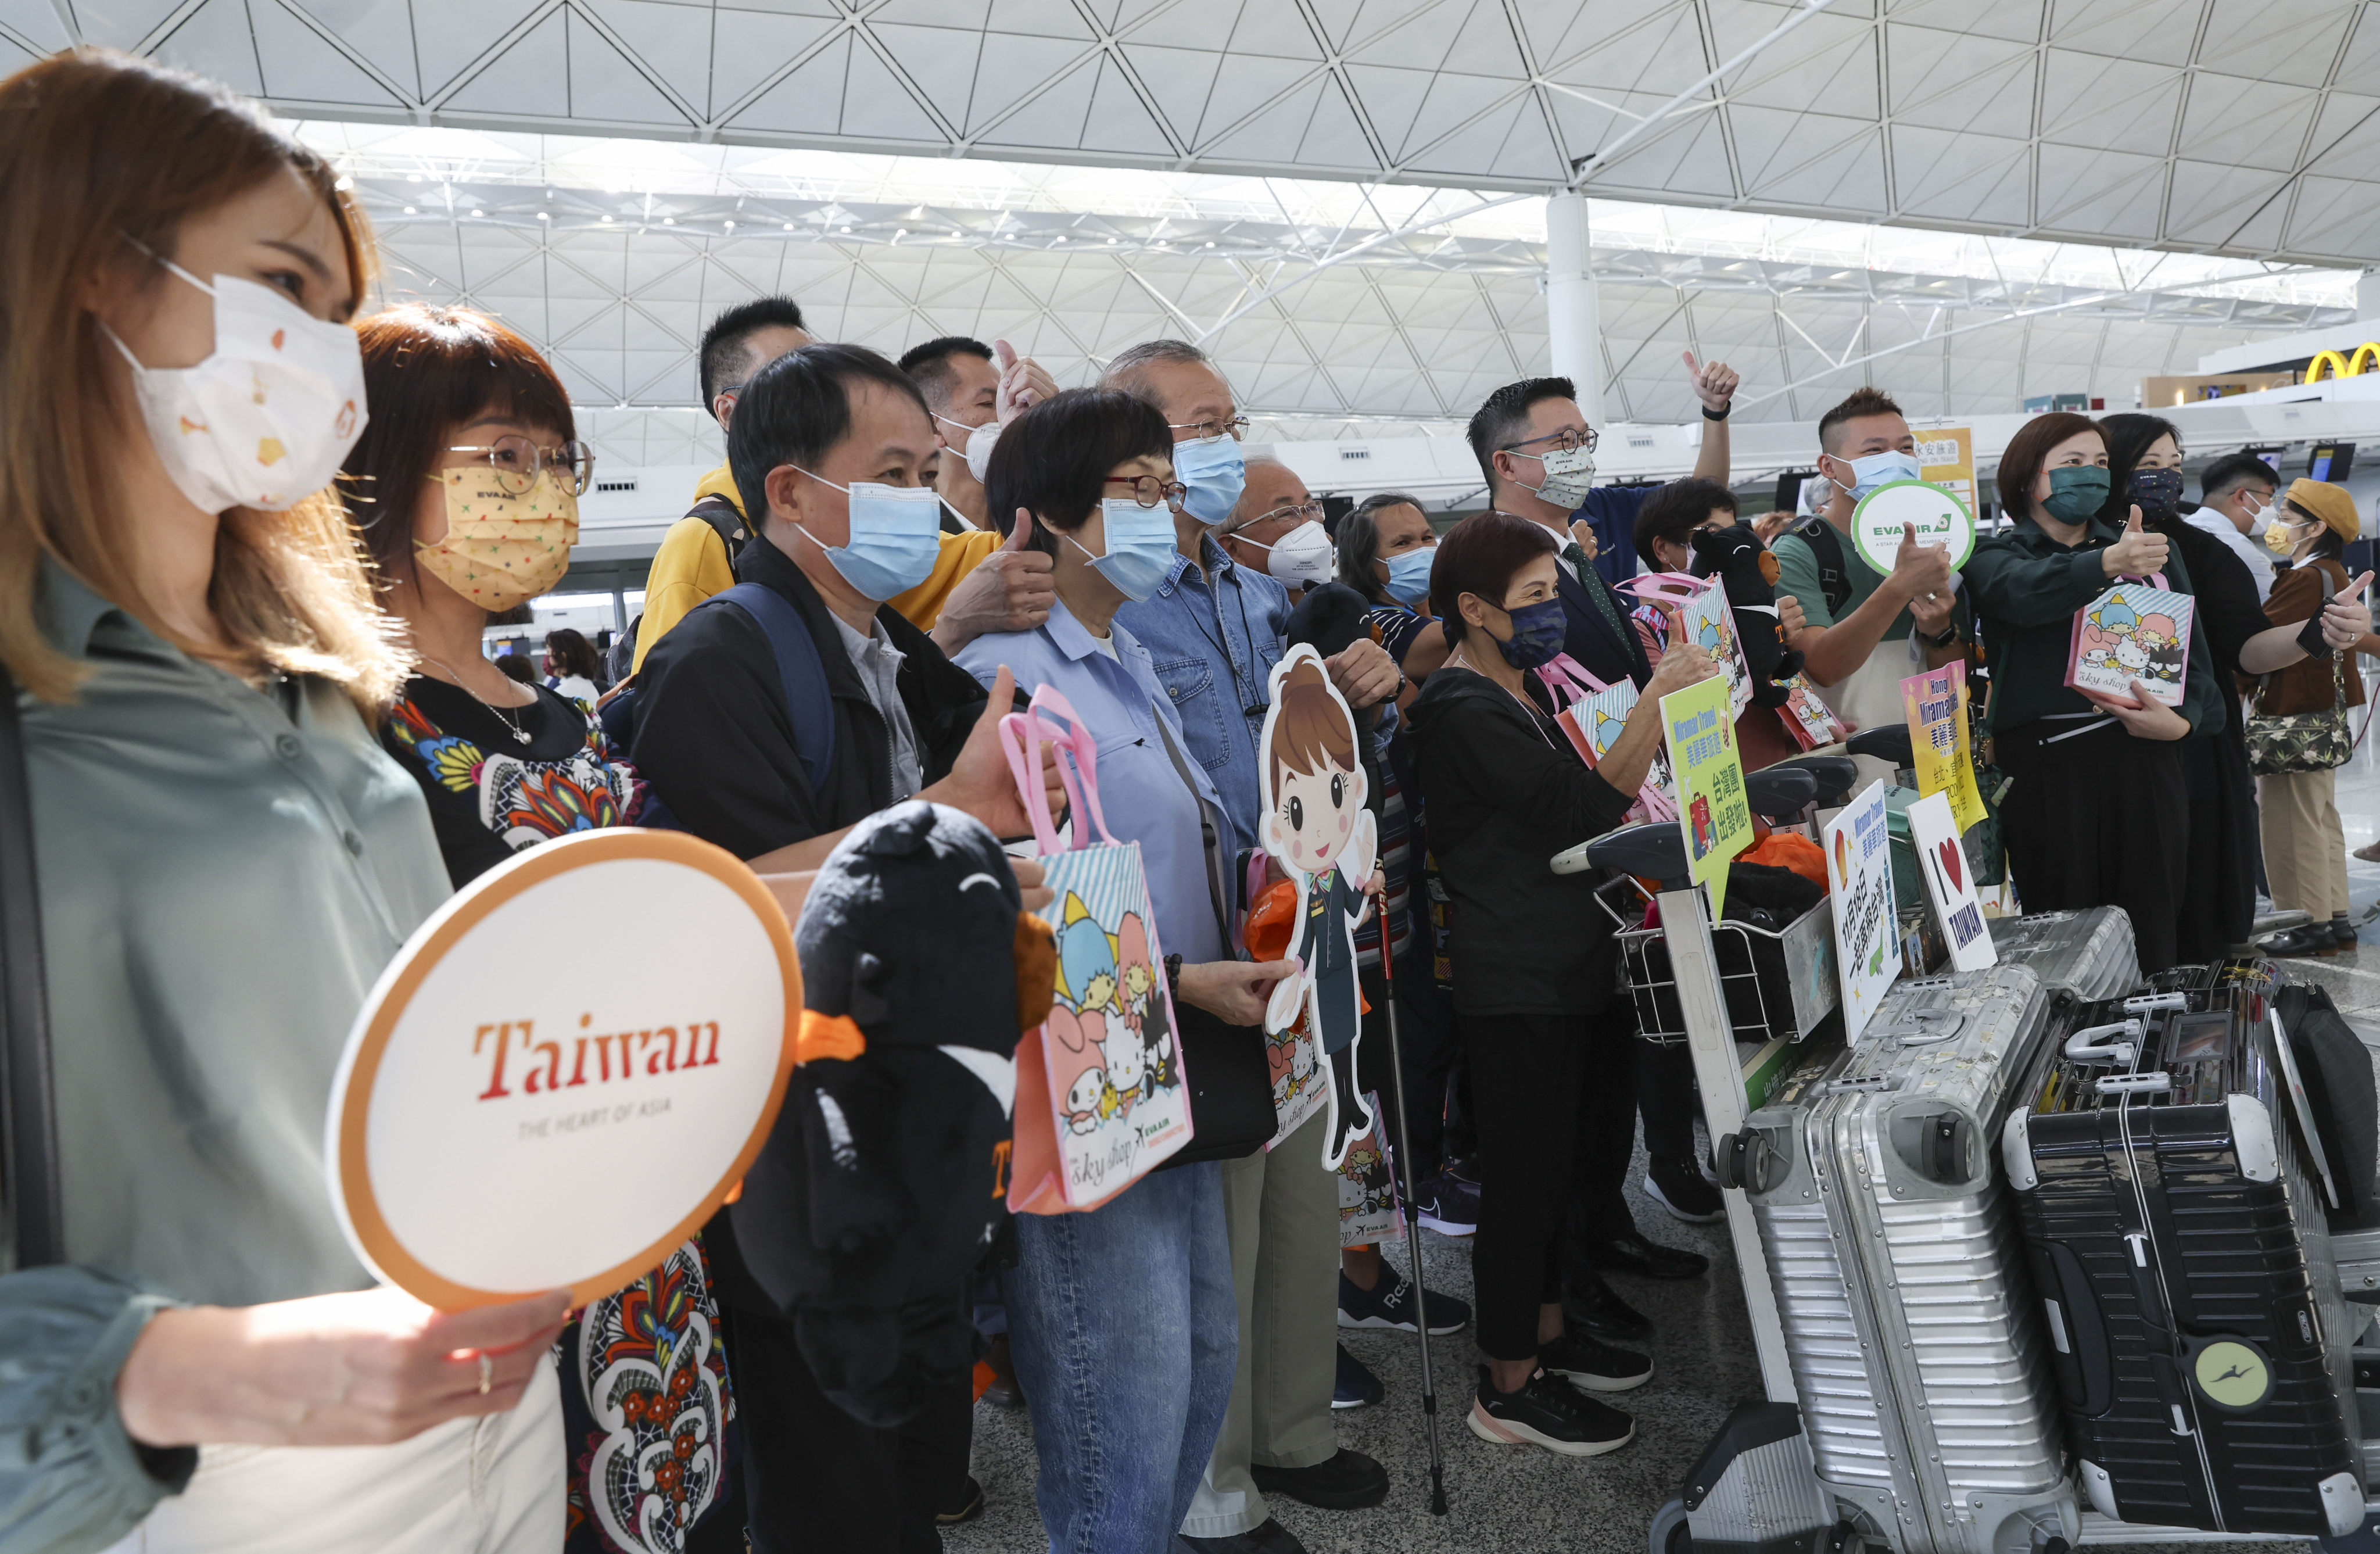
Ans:
{"label": "black trousers of the short-haired woman in navy mask and black sneakers", "polygon": [[1478,1345],[1518,1361],[1537,1354],[1537,1307],[1561,1299],[1573,1199],[1590,1237],[1630,1223],[1621,1183],[1635,1149],[1635,1035],[1611,1007],[1464,1016],[1464,1040],[1480,1138]]}

